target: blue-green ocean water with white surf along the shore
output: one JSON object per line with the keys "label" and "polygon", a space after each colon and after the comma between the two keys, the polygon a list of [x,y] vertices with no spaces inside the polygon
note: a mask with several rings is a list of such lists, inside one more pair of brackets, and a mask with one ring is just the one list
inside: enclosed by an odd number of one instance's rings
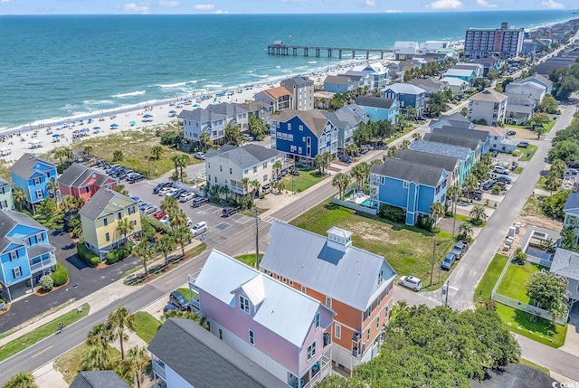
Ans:
{"label": "blue-green ocean water with white surf along the shore", "polygon": [[[0,128],[222,90],[337,64],[268,55],[284,43],[391,49],[533,28],[571,11],[416,14],[0,16]],[[344,58],[344,59],[347,59]]]}

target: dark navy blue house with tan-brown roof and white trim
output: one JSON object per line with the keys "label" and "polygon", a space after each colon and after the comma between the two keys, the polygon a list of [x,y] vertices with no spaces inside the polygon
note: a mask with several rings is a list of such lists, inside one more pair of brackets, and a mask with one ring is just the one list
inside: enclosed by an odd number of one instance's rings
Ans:
{"label": "dark navy blue house with tan-brown roof and white trim", "polygon": [[293,157],[313,159],[318,154],[337,154],[338,128],[318,109],[285,109],[271,116],[275,148]]}

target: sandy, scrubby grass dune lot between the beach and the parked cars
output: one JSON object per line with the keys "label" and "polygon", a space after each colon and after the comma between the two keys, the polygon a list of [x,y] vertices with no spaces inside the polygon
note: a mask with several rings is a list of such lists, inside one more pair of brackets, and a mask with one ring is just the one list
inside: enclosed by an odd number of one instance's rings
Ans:
{"label": "sandy, scrubby grass dune lot between the beach and the parked cars", "polygon": [[[115,162],[121,166],[129,167],[139,173],[148,175],[147,160],[151,154],[151,149],[159,146],[160,137],[155,136],[153,129],[144,129],[143,131],[130,130],[119,133],[112,133],[106,137],[93,137],[82,140],[72,145],[74,149],[83,149],[92,147],[91,155],[99,156],[103,160],[112,162],[112,155],[115,151],[121,150],[125,158]],[[177,151],[175,148],[163,147],[163,154],[159,160],[150,162],[151,178],[157,178],[171,170],[175,170],[175,163],[171,157],[176,155],[187,155],[184,152]],[[53,159],[53,157],[52,157]],[[202,163],[201,160],[195,159],[189,155],[190,165]]]}

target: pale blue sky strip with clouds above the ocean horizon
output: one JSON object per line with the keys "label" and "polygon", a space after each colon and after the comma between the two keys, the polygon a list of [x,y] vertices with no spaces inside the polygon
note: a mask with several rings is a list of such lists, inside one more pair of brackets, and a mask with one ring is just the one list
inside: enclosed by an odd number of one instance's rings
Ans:
{"label": "pale blue sky strip with clouds above the ocean horizon", "polygon": [[0,14],[330,14],[546,10],[576,0],[0,0]]}

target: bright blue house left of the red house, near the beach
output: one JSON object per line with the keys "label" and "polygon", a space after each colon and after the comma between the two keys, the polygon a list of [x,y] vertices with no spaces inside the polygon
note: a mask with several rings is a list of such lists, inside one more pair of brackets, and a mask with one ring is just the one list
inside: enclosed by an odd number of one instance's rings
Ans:
{"label": "bright blue house left of the red house, near the beach", "polygon": [[26,201],[34,211],[34,205],[48,198],[50,193],[46,185],[53,179],[56,181],[56,165],[34,156],[24,154],[10,167],[12,182],[17,188],[21,188],[26,193]]}

